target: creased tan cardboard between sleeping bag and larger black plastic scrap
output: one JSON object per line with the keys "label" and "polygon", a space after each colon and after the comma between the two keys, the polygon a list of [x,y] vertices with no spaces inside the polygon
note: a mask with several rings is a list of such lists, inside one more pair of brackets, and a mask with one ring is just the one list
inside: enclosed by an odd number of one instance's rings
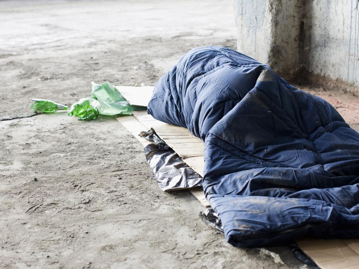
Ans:
{"label": "creased tan cardboard between sleeping bag and larger black plastic scrap", "polygon": [[203,156],[202,140],[192,135],[187,128],[158,121],[147,114],[147,111],[134,111],[133,114],[148,129],[153,128],[157,135],[183,159]]}

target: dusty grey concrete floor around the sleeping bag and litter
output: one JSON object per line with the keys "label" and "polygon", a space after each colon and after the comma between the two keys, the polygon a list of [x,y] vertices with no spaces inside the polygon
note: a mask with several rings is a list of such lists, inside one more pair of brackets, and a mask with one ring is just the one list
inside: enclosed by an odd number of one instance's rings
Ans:
{"label": "dusty grey concrete floor around the sleeping bag and litter", "polygon": [[[299,268],[237,249],[163,193],[115,117],[31,116],[31,98],[71,104],[90,82],[153,84],[186,51],[236,48],[232,1],[0,1],[0,268]],[[196,3],[193,3],[196,2]],[[176,4],[174,4],[176,3]],[[306,88],[358,130],[358,98]]]}

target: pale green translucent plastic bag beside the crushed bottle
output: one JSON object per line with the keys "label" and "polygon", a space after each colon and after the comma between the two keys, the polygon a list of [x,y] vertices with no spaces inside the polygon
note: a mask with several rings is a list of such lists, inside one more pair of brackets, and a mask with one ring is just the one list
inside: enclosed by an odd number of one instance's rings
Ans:
{"label": "pale green translucent plastic bag beside the crushed bottle", "polygon": [[92,97],[100,103],[98,107],[100,115],[132,115],[134,109],[115,86],[108,82],[102,84],[91,82],[91,84]]}

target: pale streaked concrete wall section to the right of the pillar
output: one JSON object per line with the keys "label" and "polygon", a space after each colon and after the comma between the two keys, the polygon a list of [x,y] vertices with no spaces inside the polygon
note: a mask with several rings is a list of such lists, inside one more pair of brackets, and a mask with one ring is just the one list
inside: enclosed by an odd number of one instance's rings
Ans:
{"label": "pale streaked concrete wall section to the right of the pillar", "polygon": [[316,0],[307,10],[308,71],[358,85],[358,1]]}

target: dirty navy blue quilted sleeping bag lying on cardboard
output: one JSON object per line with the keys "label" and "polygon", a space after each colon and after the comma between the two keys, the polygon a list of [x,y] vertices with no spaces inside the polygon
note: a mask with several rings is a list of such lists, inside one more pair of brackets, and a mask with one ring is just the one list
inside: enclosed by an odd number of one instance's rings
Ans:
{"label": "dirty navy blue quilted sleeping bag lying on cardboard", "polygon": [[193,49],[157,82],[148,113],[204,141],[204,192],[230,244],[359,236],[359,134],[270,67]]}

